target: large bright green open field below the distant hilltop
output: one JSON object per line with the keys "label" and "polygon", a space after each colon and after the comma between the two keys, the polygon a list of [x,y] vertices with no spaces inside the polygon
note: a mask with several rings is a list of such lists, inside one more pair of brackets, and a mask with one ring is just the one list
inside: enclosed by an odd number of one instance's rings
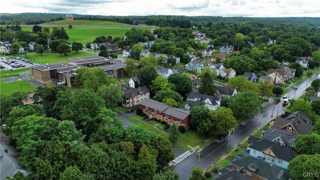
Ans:
{"label": "large bright green open field below the distant hilltop", "polygon": [[[70,22],[70,21],[69,21]],[[100,21],[101,23],[103,21]],[[50,23],[50,22],[49,22]],[[125,25],[113,25],[113,26],[99,26],[99,25],[94,25],[94,24],[84,24],[83,26],[73,26],[71,29],[67,28],[67,25],[57,25],[58,28],[63,28],[65,29],[66,34],[69,36],[68,42],[72,43],[73,41],[75,42],[81,42],[83,45],[85,45],[87,42],[92,42],[96,37],[98,36],[112,36],[114,37],[124,37],[124,34],[127,30],[129,30],[130,27],[133,27],[133,25],[128,26],[127,24]],[[45,24],[42,27],[47,27],[50,30],[50,33],[52,32],[52,26],[45,26]],[[151,27],[139,27],[136,26],[137,28],[141,28],[142,30],[149,29]],[[152,27],[156,28],[156,27]],[[32,26],[25,26],[21,25],[22,30],[27,30],[32,32]]]}

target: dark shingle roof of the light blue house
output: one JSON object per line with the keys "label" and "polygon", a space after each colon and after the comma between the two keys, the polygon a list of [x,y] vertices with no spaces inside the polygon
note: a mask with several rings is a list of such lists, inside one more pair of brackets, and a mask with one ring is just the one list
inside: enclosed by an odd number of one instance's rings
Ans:
{"label": "dark shingle roof of the light blue house", "polygon": [[[252,135],[249,137],[249,139],[252,137]],[[253,138],[256,139],[256,137],[253,136]],[[256,141],[250,140],[249,147],[258,151],[264,151],[267,149],[270,149],[276,158],[285,160],[285,161],[290,161],[292,160],[295,156],[297,156],[297,152],[293,150],[290,146],[286,145],[281,145],[280,143],[277,142],[272,142],[267,139],[259,138]]]}

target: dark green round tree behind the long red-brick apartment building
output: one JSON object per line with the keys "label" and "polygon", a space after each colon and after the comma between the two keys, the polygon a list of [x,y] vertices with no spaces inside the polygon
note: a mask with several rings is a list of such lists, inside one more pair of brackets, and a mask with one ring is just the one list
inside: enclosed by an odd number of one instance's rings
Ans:
{"label": "dark green round tree behind the long red-brick apartment building", "polygon": [[168,81],[175,85],[175,90],[182,97],[185,97],[192,91],[192,81],[191,79],[180,72],[170,74],[168,76]]}

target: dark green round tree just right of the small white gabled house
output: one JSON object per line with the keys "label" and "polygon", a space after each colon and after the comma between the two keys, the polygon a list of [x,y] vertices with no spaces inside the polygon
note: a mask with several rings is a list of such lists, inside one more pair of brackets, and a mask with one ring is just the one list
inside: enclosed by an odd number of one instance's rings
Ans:
{"label": "dark green round tree just right of the small white gabled house", "polygon": [[138,70],[137,78],[140,86],[150,87],[152,80],[158,76],[156,69],[153,65],[147,65]]}

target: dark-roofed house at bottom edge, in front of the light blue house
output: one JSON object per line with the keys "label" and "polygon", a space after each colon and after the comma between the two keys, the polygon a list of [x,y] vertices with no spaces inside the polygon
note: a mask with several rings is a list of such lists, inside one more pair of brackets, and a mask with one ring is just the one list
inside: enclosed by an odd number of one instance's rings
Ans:
{"label": "dark-roofed house at bottom edge, in front of the light blue house", "polygon": [[258,180],[288,180],[288,171],[273,163],[267,163],[261,159],[244,156],[230,162],[232,170],[241,172],[250,179]]}

